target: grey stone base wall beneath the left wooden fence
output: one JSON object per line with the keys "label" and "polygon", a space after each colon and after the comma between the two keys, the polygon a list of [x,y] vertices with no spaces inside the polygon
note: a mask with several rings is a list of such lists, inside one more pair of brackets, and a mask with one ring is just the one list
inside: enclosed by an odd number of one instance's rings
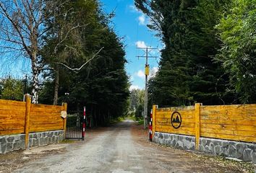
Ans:
{"label": "grey stone base wall beneath the left wooden fence", "polygon": [[[60,143],[64,139],[64,131],[47,131],[30,133],[28,147],[46,146],[52,143]],[[25,134],[12,136],[0,136],[0,154],[25,149]]]}

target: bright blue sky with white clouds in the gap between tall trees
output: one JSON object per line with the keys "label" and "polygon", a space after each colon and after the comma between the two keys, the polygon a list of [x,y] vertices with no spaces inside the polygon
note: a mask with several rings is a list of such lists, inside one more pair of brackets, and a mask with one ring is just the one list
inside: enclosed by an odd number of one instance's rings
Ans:
{"label": "bright blue sky with white clouds in the gap between tall trees", "polygon": [[[115,9],[114,28],[117,35],[124,36],[128,61],[126,69],[132,82],[131,88],[142,89],[145,85],[145,58],[136,58],[136,56],[143,56],[144,54],[142,50],[137,50],[136,47],[138,45],[138,47],[161,48],[161,41],[146,26],[149,20],[135,8],[134,0],[102,0],[102,3],[104,4],[103,9],[107,13]],[[160,56],[158,51],[153,51],[151,54],[152,56]],[[158,61],[159,58],[149,60],[151,71],[157,71]]]}

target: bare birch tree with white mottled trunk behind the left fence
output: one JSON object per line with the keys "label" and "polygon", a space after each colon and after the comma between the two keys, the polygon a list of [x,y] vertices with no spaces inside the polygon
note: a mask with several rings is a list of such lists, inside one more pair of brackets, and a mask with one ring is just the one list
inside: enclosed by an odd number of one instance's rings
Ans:
{"label": "bare birch tree with white mottled trunk behind the left fence", "polygon": [[0,47],[19,51],[30,58],[33,72],[32,102],[38,103],[38,76],[43,68],[40,49],[48,28],[44,26],[43,0],[1,0],[0,1]]}

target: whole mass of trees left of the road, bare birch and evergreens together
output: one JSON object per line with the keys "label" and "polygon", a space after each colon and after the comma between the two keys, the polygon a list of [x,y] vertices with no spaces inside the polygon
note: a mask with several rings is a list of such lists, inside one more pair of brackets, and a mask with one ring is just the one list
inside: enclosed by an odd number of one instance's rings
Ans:
{"label": "whole mass of trees left of the road, bare birch and evergreens together", "polygon": [[129,77],[122,37],[98,0],[1,1],[0,47],[30,61],[32,75],[0,80],[1,99],[87,107],[93,125],[127,112]]}

